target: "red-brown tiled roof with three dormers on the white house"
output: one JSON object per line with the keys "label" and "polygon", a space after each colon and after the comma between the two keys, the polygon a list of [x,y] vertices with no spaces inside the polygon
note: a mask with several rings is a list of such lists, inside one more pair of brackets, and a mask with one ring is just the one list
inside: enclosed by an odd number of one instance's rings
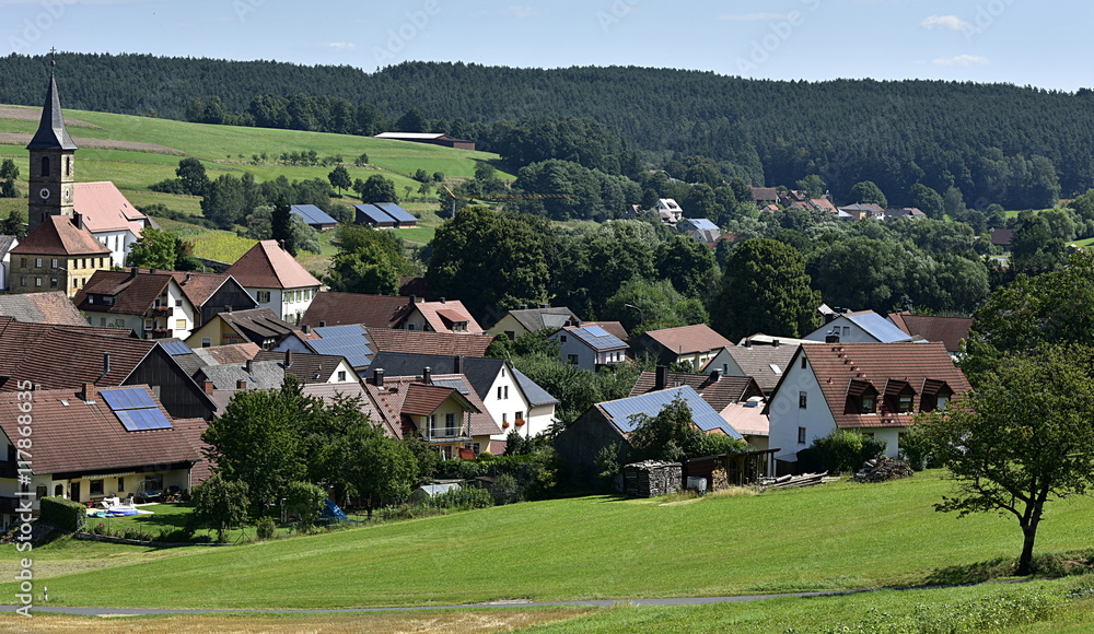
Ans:
{"label": "red-brown tiled roof with three dormers on the white house", "polygon": [[[839,427],[911,425],[922,407],[924,391],[938,389],[942,381],[954,394],[969,389],[965,375],[941,343],[836,343],[802,345],[799,350],[808,359]],[[915,390],[910,413],[897,413],[893,403],[883,398],[891,380],[907,383]],[[861,414],[848,407],[849,392],[870,387],[880,395],[878,413]]]}

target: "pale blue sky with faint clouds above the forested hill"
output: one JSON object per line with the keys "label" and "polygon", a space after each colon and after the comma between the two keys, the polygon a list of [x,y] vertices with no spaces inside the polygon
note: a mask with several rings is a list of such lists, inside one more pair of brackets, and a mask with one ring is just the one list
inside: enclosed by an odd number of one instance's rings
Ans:
{"label": "pale blue sky with faint clouds above the forested hill", "polygon": [[1094,85],[1089,0],[0,0],[9,51]]}

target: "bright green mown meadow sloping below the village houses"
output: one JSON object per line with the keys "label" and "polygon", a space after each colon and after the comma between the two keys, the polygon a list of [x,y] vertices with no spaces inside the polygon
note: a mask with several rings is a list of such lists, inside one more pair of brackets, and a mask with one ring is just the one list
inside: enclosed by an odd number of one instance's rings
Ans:
{"label": "bright green mown meadow sloping below the village houses", "polygon": [[[1013,520],[934,513],[932,504],[948,489],[929,472],[884,484],[671,505],[615,497],[517,504],[185,549],[185,556],[56,577],[50,598],[130,606],[112,590],[121,586],[171,588],[163,606],[202,608],[718,596],[915,585],[940,568],[1017,555]],[[1038,549],[1090,548],[1092,513],[1087,497],[1051,505]],[[36,561],[66,559],[48,547],[35,553]],[[219,579],[216,594],[208,591],[211,574]]]}

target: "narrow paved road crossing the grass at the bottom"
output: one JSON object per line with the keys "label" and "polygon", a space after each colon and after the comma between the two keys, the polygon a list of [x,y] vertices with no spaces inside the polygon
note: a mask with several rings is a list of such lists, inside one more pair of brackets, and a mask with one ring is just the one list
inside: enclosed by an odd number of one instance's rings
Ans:
{"label": "narrow paved road crossing the grass at the bottom", "polygon": [[[892,588],[886,588],[892,589]],[[35,604],[32,612],[51,612],[58,614],[77,614],[81,617],[135,615],[151,614],[210,614],[210,613],[248,613],[248,614],[335,614],[345,612],[409,612],[414,610],[466,610],[468,608],[539,608],[545,606],[582,606],[592,608],[610,608],[619,603],[633,606],[702,606],[709,603],[741,603],[746,601],[763,601],[784,597],[826,597],[831,595],[852,595],[856,592],[872,592],[875,590],[830,590],[825,592],[788,592],[783,595],[743,595],[736,597],[676,597],[667,599],[629,599],[601,601],[492,601],[488,603],[465,603],[461,606],[418,606],[406,608],[333,608],[315,610],[253,610],[253,609],[171,609],[171,608],[65,608],[44,607]],[[11,612],[16,606],[0,606],[0,610]]]}

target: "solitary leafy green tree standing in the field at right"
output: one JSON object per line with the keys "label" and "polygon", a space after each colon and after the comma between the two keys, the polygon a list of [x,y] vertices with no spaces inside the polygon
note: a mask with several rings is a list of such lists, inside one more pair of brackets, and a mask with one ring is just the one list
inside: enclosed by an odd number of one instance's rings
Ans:
{"label": "solitary leafy green tree standing in the field at right", "polygon": [[1029,574],[1046,505],[1094,485],[1094,349],[1054,345],[998,357],[979,387],[922,424],[957,483],[936,510],[999,512],[1022,528]]}

